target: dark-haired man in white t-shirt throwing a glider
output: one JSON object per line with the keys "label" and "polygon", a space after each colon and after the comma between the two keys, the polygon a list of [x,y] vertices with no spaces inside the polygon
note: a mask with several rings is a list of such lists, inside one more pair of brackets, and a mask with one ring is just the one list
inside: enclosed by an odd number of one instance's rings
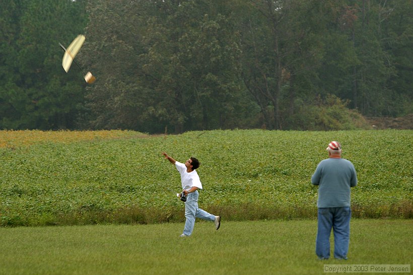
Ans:
{"label": "dark-haired man in white t-shirt throwing a glider", "polygon": [[165,152],[163,152],[162,155],[164,155],[165,159],[168,159],[170,163],[175,164],[176,169],[179,171],[179,174],[181,174],[182,191],[186,195],[186,221],[181,237],[188,237],[192,234],[195,218],[214,222],[215,228],[218,230],[221,226],[221,217],[214,216],[198,208],[198,189],[202,189],[202,184],[195,169],[199,167],[199,161],[191,157],[183,164],[168,156]]}

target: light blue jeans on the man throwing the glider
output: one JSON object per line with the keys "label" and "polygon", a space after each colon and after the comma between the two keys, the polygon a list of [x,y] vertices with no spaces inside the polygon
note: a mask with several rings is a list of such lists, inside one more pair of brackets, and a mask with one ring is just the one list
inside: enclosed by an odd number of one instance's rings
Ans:
{"label": "light blue jeans on the man throwing the glider", "polygon": [[195,225],[195,218],[200,218],[207,221],[215,221],[215,216],[198,208],[198,191],[189,193],[185,202],[185,227],[183,234],[190,236]]}

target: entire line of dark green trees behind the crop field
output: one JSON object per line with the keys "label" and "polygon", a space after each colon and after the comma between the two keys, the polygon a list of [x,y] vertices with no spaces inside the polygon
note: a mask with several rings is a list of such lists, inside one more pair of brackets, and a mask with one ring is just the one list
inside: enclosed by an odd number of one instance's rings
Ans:
{"label": "entire line of dark green trees behind the crop field", "polygon": [[[7,0],[0,128],[328,130],[412,112],[409,0]],[[61,68],[78,34],[77,62]]]}

